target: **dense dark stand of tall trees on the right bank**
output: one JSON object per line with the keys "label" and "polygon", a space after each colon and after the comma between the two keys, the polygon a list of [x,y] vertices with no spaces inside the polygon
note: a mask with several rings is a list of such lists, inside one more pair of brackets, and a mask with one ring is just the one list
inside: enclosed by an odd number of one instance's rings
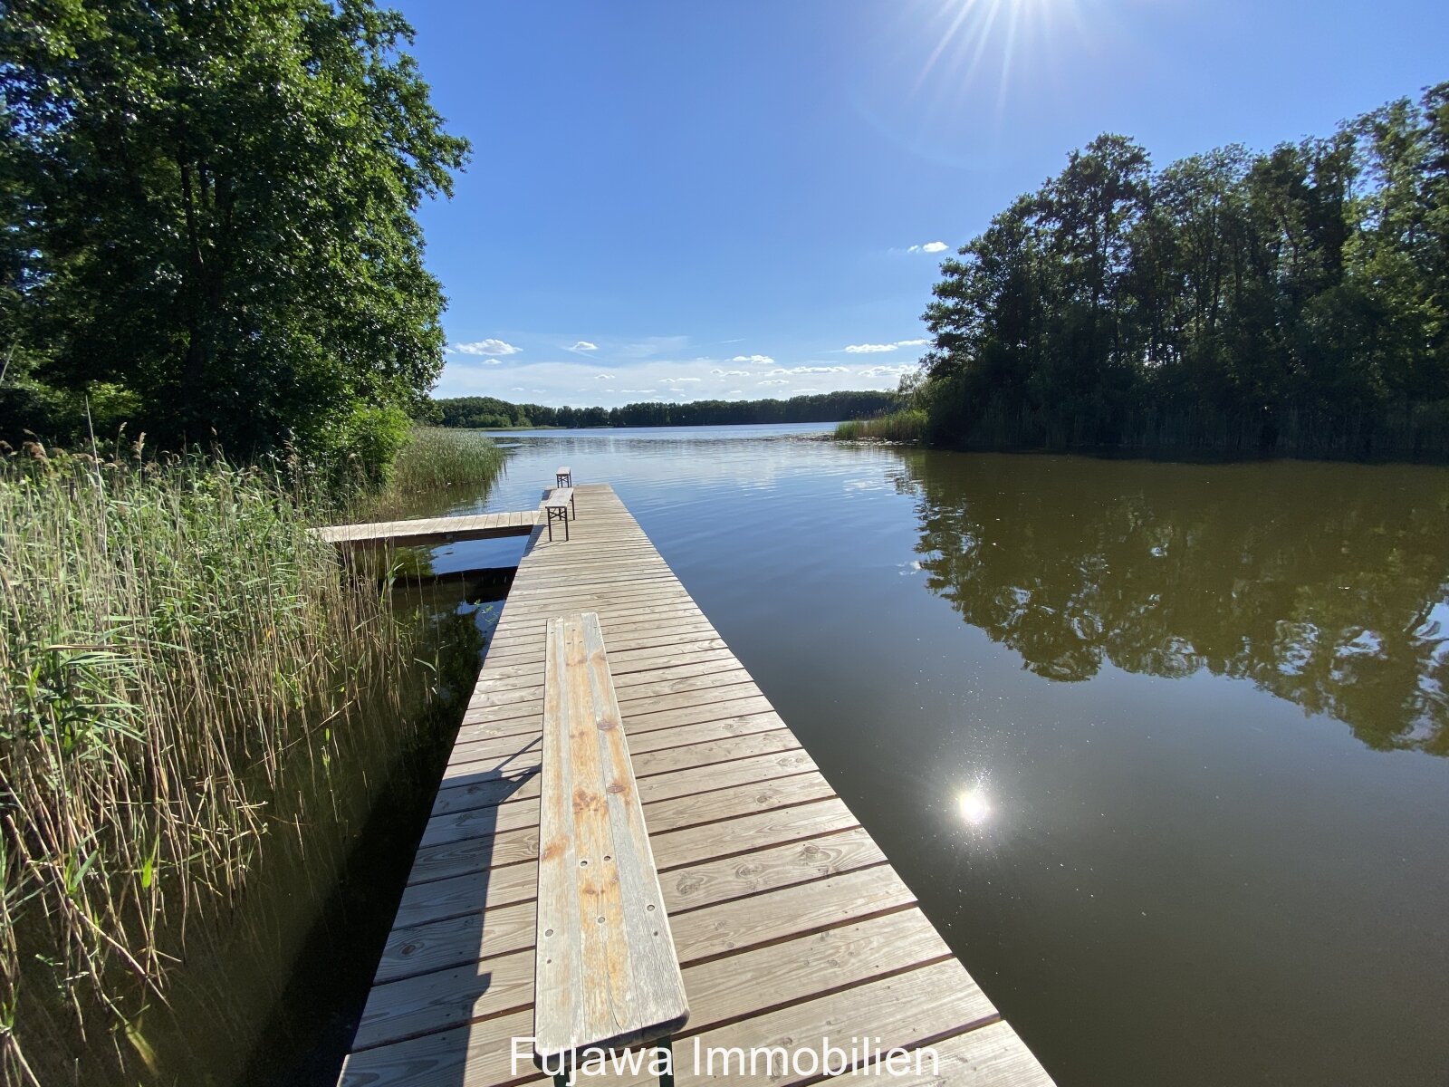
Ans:
{"label": "dense dark stand of tall trees on the right bank", "polygon": [[1449,455],[1449,84],[1153,170],[1104,135],[942,264],[938,442]]}

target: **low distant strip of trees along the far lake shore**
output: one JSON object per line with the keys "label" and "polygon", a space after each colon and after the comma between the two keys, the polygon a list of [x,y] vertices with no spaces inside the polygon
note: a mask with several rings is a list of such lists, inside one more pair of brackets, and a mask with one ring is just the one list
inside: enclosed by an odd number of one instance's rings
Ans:
{"label": "low distant strip of trees along the far lake shore", "polygon": [[435,400],[427,420],[440,426],[724,426],[733,423],[833,423],[891,409],[895,393],[819,393],[788,400],[696,400],[623,407],[510,404],[491,396]]}

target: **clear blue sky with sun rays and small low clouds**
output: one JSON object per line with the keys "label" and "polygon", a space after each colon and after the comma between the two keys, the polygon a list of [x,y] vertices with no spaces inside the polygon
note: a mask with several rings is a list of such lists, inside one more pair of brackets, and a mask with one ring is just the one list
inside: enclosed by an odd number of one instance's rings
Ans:
{"label": "clear blue sky with sun rays and small low clouds", "polygon": [[406,0],[474,158],[422,212],[436,396],[893,388],[940,246],[1100,132],[1158,164],[1449,78],[1449,4]]}

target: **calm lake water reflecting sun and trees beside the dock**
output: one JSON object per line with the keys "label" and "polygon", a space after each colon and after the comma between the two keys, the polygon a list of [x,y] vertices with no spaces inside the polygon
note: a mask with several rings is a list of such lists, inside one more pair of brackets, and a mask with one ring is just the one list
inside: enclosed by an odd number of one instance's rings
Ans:
{"label": "calm lake water reflecting sun and trees beside the dock", "polygon": [[452,512],[611,483],[1064,1087],[1449,1080],[1449,470],[817,429],[501,436]]}

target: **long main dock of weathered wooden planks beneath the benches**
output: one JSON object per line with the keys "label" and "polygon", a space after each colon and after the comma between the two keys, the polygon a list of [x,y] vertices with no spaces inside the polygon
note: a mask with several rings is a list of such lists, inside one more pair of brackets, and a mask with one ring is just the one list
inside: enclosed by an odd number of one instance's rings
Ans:
{"label": "long main dock of weathered wooden planks beneath the benches", "polygon": [[[535,529],[519,564],[341,1083],[546,1081],[513,1041],[533,1028],[545,632],[549,616],[587,610],[603,625],[684,968],[681,1087],[811,1083],[822,1077],[778,1065],[716,1064],[711,1077],[694,1058],[819,1054],[824,1039],[858,1058],[923,1055],[923,1074],[865,1058],[851,1080],[1051,1084],[613,488],[580,486],[577,504],[571,539]],[[648,1065],[578,1078],[635,1081],[653,1083]]]}

